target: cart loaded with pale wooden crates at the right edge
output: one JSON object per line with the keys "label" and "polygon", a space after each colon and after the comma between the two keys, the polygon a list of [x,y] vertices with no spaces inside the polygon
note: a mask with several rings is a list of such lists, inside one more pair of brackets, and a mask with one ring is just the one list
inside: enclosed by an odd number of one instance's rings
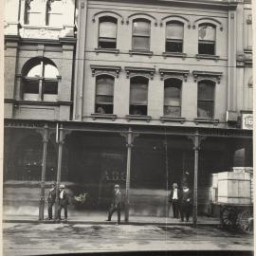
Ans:
{"label": "cart loaded with pale wooden crates at the right edge", "polygon": [[220,207],[225,228],[253,232],[252,169],[233,168],[233,172],[212,174],[212,203]]}

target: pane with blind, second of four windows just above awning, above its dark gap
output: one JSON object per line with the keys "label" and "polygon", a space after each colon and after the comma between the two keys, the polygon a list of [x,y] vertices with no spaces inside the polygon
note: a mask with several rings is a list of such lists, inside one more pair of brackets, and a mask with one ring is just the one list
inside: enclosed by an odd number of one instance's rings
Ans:
{"label": "pane with blind, second of four windows just above awning, above its dark gap", "polygon": [[131,104],[147,104],[148,101],[148,85],[147,84],[131,84],[130,103]]}

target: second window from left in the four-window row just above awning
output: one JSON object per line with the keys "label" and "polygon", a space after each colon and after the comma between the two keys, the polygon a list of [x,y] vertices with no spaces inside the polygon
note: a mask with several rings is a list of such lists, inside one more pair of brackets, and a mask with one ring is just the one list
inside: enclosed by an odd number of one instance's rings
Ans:
{"label": "second window from left in the four-window row just above awning", "polygon": [[148,82],[144,77],[131,78],[130,82],[130,115],[147,116]]}

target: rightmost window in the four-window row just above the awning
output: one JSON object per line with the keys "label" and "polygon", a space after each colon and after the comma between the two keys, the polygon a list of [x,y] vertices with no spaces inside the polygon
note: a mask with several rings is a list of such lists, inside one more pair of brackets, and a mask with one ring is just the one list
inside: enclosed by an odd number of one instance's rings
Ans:
{"label": "rightmost window in the four-window row just above the awning", "polygon": [[213,119],[214,117],[215,82],[198,82],[197,91],[197,117]]}

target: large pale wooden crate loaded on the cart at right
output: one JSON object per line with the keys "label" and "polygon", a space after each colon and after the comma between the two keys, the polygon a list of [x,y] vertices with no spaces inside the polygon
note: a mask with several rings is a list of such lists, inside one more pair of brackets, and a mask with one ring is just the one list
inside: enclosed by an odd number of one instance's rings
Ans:
{"label": "large pale wooden crate loaded on the cart at right", "polygon": [[251,204],[251,174],[219,173],[217,202],[237,205]]}

